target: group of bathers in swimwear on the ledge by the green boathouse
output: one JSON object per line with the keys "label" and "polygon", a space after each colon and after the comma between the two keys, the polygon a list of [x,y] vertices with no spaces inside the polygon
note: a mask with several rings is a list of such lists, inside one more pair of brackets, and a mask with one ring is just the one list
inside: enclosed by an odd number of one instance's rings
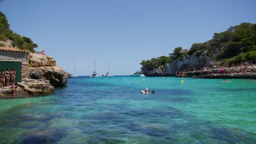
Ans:
{"label": "group of bathers in swimwear on the ledge by the green boathouse", "polygon": [[[13,94],[16,95],[17,89],[18,89],[18,83],[15,83],[15,75],[16,71],[15,68],[12,68],[11,70],[7,68],[5,71],[1,69],[1,88],[4,88],[5,86],[8,88],[13,89]],[[11,86],[10,86],[11,85]]]}

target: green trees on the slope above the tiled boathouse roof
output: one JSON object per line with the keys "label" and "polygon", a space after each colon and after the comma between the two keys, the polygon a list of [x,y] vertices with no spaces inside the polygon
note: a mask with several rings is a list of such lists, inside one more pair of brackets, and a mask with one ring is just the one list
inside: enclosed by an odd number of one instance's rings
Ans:
{"label": "green trees on the slope above the tiled boathouse roof", "polygon": [[[11,40],[11,45],[13,47],[18,47],[22,49],[25,46],[26,51],[35,52],[34,48],[38,47],[37,44],[34,44],[30,38],[21,37],[19,34],[14,33],[10,29],[10,25],[7,21],[7,17],[0,11],[0,40],[6,41]],[[2,46],[2,45],[1,45]]]}

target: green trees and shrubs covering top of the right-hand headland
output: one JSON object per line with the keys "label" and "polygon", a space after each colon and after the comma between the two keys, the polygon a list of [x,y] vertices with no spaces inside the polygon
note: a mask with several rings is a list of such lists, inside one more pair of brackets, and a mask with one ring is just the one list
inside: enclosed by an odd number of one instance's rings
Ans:
{"label": "green trees and shrubs covering top of the right-hand headland", "polygon": [[202,53],[210,56],[212,61],[221,61],[220,64],[228,62],[229,66],[245,61],[256,62],[256,24],[241,23],[228,28],[225,32],[214,33],[213,38],[205,43],[193,44],[188,52],[181,53],[181,50],[182,47],[176,47],[172,57],[161,56],[161,58],[142,61],[142,68],[153,70],[174,59],[178,60],[192,55],[198,57]]}

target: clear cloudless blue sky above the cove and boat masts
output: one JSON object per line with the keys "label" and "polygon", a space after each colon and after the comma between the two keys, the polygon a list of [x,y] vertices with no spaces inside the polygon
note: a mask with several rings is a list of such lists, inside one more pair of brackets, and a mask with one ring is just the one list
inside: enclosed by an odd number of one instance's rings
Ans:
{"label": "clear cloudless blue sky above the cove and boat masts", "polygon": [[142,60],[189,49],[242,22],[256,23],[256,1],[4,0],[10,28],[29,37],[57,65],[78,75],[140,70]]}

